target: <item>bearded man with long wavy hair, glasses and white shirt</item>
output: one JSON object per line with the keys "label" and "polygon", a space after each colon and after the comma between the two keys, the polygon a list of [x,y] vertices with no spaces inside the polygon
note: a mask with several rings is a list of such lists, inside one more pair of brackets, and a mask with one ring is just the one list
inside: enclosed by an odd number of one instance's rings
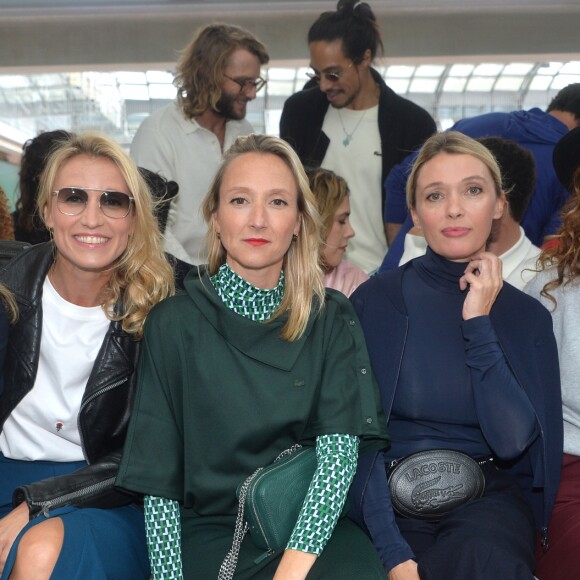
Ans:
{"label": "bearded man with long wavy hair, glasses and white shirt", "polygon": [[165,251],[189,264],[206,261],[199,206],[222,153],[253,131],[246,107],[266,84],[260,67],[268,61],[264,45],[246,30],[227,24],[202,27],[177,63],[176,102],[145,119],[131,144],[140,167],[179,186],[167,220]]}

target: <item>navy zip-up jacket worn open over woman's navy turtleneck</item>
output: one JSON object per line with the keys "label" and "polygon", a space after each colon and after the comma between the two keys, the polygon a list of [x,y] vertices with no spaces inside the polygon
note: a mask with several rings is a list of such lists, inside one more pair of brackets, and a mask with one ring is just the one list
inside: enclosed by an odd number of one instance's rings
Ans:
{"label": "navy zip-up jacket worn open over woman's navy turtleneck", "polygon": [[[387,420],[399,380],[409,324],[402,293],[402,277],[409,267],[411,262],[373,276],[351,297],[365,334]],[[529,298],[504,284],[490,318],[508,364],[528,396],[540,427],[540,435],[517,461],[512,462],[509,471],[528,497],[536,525],[545,540],[560,482],[562,401],[551,317],[537,300]],[[363,528],[373,527],[371,535],[375,546],[385,567],[391,569],[413,554],[395,523],[388,491],[385,493],[388,489],[385,468],[380,465],[380,470],[377,469],[377,462],[384,462],[382,453],[367,454],[359,459],[351,487],[349,515]],[[377,473],[383,474],[385,481],[377,481]],[[384,522],[379,533],[377,514]]]}

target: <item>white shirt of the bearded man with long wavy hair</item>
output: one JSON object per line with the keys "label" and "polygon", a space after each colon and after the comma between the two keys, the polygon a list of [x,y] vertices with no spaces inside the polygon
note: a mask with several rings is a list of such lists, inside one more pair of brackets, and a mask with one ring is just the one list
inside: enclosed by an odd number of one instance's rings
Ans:
{"label": "white shirt of the bearded man with long wavy hair", "polygon": [[[224,151],[252,131],[245,119],[227,121]],[[190,264],[205,263],[207,228],[200,207],[222,160],[215,133],[186,119],[172,103],[143,121],[131,144],[131,157],[179,186],[167,219],[165,251]]]}

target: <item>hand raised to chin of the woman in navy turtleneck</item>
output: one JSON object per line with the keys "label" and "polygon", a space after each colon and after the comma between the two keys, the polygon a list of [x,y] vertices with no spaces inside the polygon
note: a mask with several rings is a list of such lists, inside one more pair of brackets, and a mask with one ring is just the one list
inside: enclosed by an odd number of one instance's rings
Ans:
{"label": "hand raised to chin of the woman in navy turtleneck", "polygon": [[463,320],[487,316],[502,286],[501,260],[491,252],[475,256],[459,279],[461,290],[469,288],[463,303]]}

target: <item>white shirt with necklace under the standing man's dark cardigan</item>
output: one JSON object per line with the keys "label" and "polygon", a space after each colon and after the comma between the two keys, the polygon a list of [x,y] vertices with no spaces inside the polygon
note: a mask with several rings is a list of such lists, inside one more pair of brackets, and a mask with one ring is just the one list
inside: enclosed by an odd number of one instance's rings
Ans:
{"label": "white shirt with necklace under the standing man's dark cardigan", "polygon": [[344,177],[350,189],[350,223],[355,237],[346,258],[367,274],[387,252],[383,224],[379,106],[355,111],[328,107],[322,131],[330,139],[321,166]]}

